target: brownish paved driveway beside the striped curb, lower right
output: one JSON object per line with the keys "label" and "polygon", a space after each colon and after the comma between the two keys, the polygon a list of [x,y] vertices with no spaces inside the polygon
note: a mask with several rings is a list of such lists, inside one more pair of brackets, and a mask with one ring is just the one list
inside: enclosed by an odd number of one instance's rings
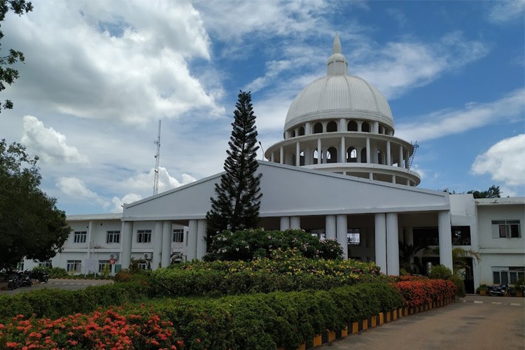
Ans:
{"label": "brownish paved driveway beside the striped curb, lower right", "polygon": [[[468,295],[321,349],[525,349],[525,298]],[[328,349],[327,349],[328,350]]]}

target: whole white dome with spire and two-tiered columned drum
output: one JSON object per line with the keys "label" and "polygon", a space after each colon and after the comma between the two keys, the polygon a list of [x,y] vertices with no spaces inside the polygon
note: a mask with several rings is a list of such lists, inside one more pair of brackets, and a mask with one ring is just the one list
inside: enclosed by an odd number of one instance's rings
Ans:
{"label": "whole white dome with spire and two-tiered columned drum", "polygon": [[409,169],[414,147],[393,136],[392,112],[381,92],[363,78],[347,75],[337,34],[327,66],[327,76],[297,94],[286,116],[284,140],[270,146],[265,157],[280,164],[419,185],[419,174]]}

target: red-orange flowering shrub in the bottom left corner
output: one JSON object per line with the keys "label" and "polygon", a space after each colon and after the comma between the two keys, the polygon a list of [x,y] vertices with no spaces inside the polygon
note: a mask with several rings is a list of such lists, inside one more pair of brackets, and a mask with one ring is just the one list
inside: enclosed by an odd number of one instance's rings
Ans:
{"label": "red-orange flowering shrub in the bottom left corner", "polygon": [[182,346],[183,341],[172,322],[161,321],[143,306],[55,320],[18,315],[0,324],[0,344],[4,344],[2,349],[177,349],[174,344]]}

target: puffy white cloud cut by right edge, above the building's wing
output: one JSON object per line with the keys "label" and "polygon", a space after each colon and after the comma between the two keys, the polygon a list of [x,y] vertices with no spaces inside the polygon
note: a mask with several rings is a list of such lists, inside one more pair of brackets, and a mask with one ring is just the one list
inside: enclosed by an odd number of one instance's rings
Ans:
{"label": "puffy white cloud cut by right edge, above the building's wing", "polygon": [[[478,155],[472,164],[475,175],[489,174],[507,188],[525,186],[525,134],[503,139]],[[510,192],[510,191],[509,191]]]}

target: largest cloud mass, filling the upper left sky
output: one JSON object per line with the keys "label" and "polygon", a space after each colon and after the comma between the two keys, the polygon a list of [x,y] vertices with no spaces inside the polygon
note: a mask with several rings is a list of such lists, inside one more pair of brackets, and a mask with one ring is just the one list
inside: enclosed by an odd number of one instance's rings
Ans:
{"label": "largest cloud mass, filling the upper left sky", "polygon": [[27,57],[24,78],[13,85],[26,101],[133,124],[191,110],[223,113],[190,69],[191,59],[209,59],[210,52],[189,2],[57,1],[8,18],[6,28],[6,41]]}

